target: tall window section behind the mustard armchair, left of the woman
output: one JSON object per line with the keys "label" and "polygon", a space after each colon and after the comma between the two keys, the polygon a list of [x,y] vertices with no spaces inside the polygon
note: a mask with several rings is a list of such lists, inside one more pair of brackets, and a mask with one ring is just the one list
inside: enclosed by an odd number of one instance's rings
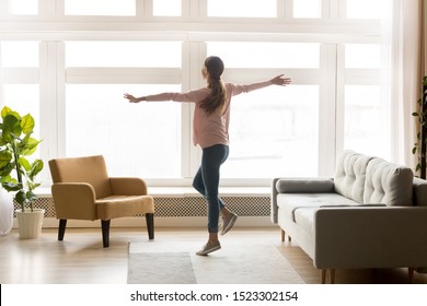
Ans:
{"label": "tall window section behind the mustard armchair, left of the woman", "polygon": [[66,155],[103,154],[112,175],[180,178],[181,106],[129,104],[123,95],[181,92],[181,84],[145,84],[155,73],[164,73],[163,82],[174,75],[173,69],[181,68],[181,46],[176,42],[67,42]]}

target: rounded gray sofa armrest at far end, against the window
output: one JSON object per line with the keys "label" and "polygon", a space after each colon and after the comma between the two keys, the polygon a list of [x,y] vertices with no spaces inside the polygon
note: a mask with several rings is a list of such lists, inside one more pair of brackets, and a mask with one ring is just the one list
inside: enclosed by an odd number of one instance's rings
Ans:
{"label": "rounded gray sofa armrest at far end, against the window", "polygon": [[275,185],[279,193],[334,192],[334,180],[332,178],[279,178]]}

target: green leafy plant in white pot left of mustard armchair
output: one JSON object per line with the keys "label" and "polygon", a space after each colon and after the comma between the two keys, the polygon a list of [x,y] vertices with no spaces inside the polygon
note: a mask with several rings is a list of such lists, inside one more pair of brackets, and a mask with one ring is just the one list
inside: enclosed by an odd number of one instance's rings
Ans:
{"label": "green leafy plant in white pot left of mustard armchair", "polygon": [[13,199],[20,209],[15,211],[21,238],[38,237],[42,232],[43,209],[33,207],[37,196],[34,189],[41,184],[35,181],[36,175],[43,169],[42,160],[30,162],[41,140],[32,138],[35,121],[27,114],[19,113],[4,106],[1,109],[0,123],[0,183],[9,192],[14,192]]}

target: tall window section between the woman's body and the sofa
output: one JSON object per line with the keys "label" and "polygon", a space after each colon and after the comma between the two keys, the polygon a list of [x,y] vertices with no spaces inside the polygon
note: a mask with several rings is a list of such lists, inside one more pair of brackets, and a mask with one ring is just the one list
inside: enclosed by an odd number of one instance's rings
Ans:
{"label": "tall window section between the woman's body and the sofa", "polygon": [[[320,67],[319,44],[209,43],[208,55],[224,60],[226,78],[231,79],[226,81],[231,82],[268,80],[275,76],[274,72],[266,74],[268,69],[304,73],[304,69]],[[316,175],[319,98],[319,86],[302,84],[270,86],[233,97],[231,150],[222,176],[251,177],[256,173],[268,178],[284,170],[291,176]]]}

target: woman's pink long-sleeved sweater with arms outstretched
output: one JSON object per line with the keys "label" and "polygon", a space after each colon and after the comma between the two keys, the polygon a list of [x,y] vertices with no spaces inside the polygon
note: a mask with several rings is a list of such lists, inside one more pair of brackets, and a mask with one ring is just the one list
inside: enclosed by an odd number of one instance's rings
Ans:
{"label": "woman's pink long-sleeved sweater with arms outstretched", "polygon": [[210,93],[210,89],[189,91],[186,93],[162,93],[146,96],[148,102],[174,101],[195,103],[193,119],[193,142],[200,148],[208,148],[215,144],[229,144],[230,102],[231,97],[241,93],[249,93],[272,85],[272,81],[253,83],[249,85],[236,85],[226,83],[226,105],[223,110],[217,109],[208,115],[200,108],[200,102]]}

